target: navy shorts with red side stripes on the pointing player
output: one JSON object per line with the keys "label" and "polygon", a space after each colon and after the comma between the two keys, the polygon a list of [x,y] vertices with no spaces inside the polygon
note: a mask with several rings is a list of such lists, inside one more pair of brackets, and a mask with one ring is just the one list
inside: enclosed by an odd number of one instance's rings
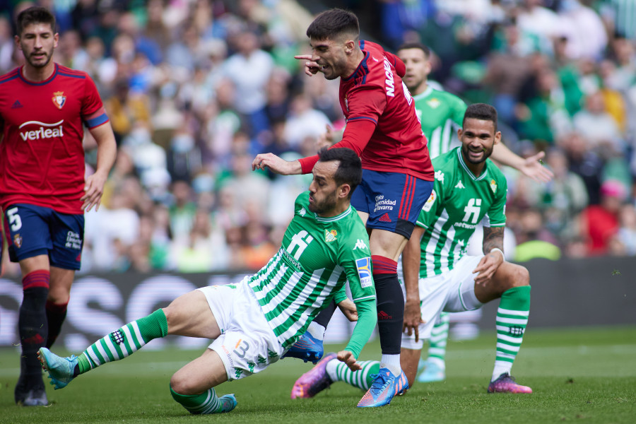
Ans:
{"label": "navy shorts with red side stripes on the pointing player", "polygon": [[411,237],[433,182],[399,172],[363,170],[363,181],[351,196],[351,204],[369,214],[367,228],[379,228]]}

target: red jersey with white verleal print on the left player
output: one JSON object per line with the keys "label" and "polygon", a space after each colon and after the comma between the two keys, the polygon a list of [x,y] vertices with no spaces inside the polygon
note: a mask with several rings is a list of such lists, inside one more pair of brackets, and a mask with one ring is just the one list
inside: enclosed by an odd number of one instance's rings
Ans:
{"label": "red jersey with white verleal print on the left player", "polygon": [[0,77],[0,205],[25,203],[83,213],[83,125],[108,122],[86,72],[59,64],[46,81],[22,69]]}

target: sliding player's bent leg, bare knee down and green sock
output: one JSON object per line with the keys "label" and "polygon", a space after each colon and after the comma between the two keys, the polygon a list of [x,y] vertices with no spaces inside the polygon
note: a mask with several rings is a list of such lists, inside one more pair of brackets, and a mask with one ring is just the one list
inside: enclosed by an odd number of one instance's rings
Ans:
{"label": "sliding player's bent leg, bare knee down and green sock", "polygon": [[193,414],[230,412],[237,405],[234,394],[217,396],[214,387],[228,381],[228,372],[218,353],[207,349],[170,379],[172,398]]}

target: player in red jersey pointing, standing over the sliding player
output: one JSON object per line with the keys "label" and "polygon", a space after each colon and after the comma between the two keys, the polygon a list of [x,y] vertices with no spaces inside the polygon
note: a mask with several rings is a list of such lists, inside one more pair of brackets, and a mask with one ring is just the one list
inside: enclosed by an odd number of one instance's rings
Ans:
{"label": "player in red jersey pointing, standing over the sliding player", "polygon": [[[383,406],[408,388],[400,367],[404,296],[397,260],[411,237],[418,211],[430,196],[433,169],[413,99],[401,80],[404,63],[381,46],[360,40],[358,18],[338,8],[317,16],[307,28],[307,37],[312,54],[296,57],[307,61],[305,72],[310,76],[322,72],[329,80],[340,78],[340,105],[347,125],[342,141],[334,147],[351,148],[362,159],[363,182],[351,204],[371,230],[382,360],[379,374],[358,406]],[[264,153],[254,158],[252,169],[269,167],[282,175],[300,174],[311,172],[316,161],[317,156],[311,156],[288,162]],[[333,310],[327,308],[310,325],[305,340],[299,342],[308,348],[289,355],[311,360],[322,355],[324,326]]]}

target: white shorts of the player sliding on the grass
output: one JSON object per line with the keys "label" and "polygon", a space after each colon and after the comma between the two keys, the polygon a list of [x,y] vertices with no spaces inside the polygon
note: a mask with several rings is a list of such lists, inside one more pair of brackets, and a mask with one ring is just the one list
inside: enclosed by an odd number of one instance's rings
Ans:
{"label": "white shorts of the player sliding on the grass", "polygon": [[283,346],[247,284],[208,285],[198,290],[206,295],[221,331],[208,348],[223,360],[228,380],[261,372],[281,358]]}

